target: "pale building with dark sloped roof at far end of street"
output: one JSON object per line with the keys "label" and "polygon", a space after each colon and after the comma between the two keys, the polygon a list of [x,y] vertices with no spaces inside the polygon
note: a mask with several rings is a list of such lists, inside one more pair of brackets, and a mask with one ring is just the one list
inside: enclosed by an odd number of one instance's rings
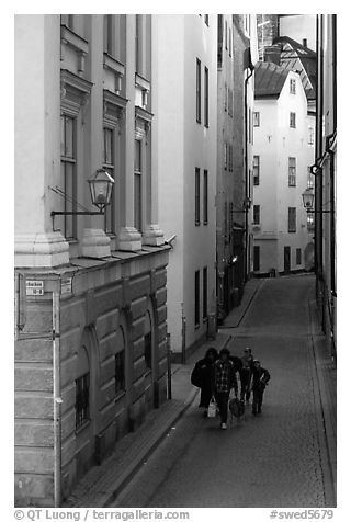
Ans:
{"label": "pale building with dark sloped roof at far end of street", "polygon": [[298,73],[257,65],[253,128],[253,271],[309,270],[313,224],[302,193],[312,183],[314,117]]}

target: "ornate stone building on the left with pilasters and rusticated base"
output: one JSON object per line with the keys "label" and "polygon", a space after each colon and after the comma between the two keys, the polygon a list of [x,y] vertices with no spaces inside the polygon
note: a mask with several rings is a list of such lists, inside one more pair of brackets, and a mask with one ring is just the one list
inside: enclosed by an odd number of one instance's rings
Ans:
{"label": "ornate stone building on the left with pilasters and rusticated base", "polygon": [[[167,398],[154,23],[15,16],[18,506],[59,506]],[[112,201],[87,214],[98,169]]]}

